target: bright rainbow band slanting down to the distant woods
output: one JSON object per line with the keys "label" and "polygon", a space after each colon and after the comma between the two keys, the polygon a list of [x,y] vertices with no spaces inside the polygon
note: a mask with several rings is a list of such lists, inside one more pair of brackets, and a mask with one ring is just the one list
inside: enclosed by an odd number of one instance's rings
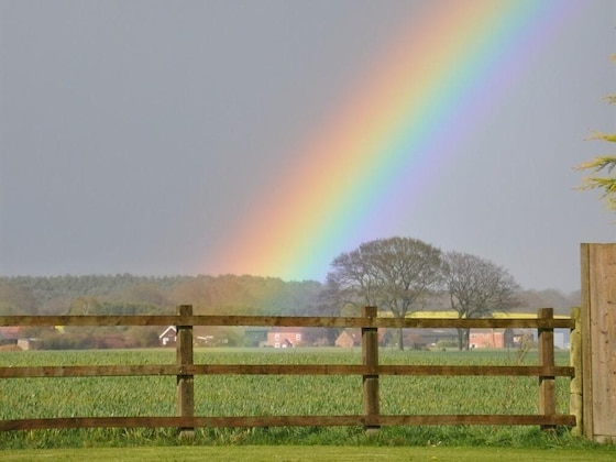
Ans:
{"label": "bright rainbow band slanting down to the distant woods", "polygon": [[397,198],[420,200],[455,144],[582,3],[426,1],[322,132],[251,198],[254,212],[204,270],[323,280],[341,252],[389,237],[408,207]]}

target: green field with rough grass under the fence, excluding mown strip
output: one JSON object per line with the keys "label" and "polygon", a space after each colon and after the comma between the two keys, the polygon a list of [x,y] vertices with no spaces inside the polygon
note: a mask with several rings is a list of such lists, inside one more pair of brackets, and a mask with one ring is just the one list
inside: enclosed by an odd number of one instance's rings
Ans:
{"label": "green field with rough grass under the fence, excluding mown strip", "polygon": [[[173,364],[175,350],[2,352],[0,365]],[[383,349],[383,364],[536,364],[530,351],[427,352]],[[360,364],[359,350],[202,349],[195,363]],[[557,363],[569,363],[568,352]],[[0,418],[174,416],[176,380],[87,377],[0,380]],[[381,378],[383,414],[537,414],[536,377]],[[359,376],[197,376],[197,416],[356,415],[362,413]],[[557,378],[558,413],[569,413],[569,380]],[[69,429],[0,433],[0,448],[84,448],[178,444],[175,429]],[[568,429],[546,435],[536,427],[386,427],[367,437],[359,427],[197,429],[193,444],[315,444],[416,447],[586,447]]]}

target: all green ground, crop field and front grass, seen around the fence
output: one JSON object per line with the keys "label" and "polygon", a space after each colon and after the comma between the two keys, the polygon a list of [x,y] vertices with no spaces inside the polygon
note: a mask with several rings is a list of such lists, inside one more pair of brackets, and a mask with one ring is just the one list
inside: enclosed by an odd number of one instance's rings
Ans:
{"label": "all green ground, crop field and front grass, seen around the fence", "polygon": [[[534,364],[536,352],[380,352],[383,364]],[[198,350],[204,364],[353,364],[360,352],[333,349]],[[172,350],[3,352],[2,366],[170,364]],[[568,364],[569,353],[557,352]],[[0,419],[173,416],[175,376],[0,380]],[[61,393],[58,393],[58,391]],[[199,376],[200,416],[358,415],[359,376]],[[537,377],[384,376],[384,414],[535,414]],[[557,380],[557,407],[569,410],[569,381]],[[389,427],[366,437],[360,427],[196,429],[182,446],[176,429],[67,429],[0,432],[0,460],[190,461],[616,461],[616,444],[593,444],[569,429],[536,427]],[[184,442],[186,443],[186,442]]]}

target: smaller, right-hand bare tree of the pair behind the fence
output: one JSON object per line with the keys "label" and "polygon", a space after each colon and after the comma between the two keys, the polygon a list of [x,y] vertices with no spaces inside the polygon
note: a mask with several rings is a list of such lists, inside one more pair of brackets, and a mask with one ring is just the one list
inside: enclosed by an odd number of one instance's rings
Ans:
{"label": "smaller, right-hand bare tree of the pair behind the fence", "polygon": [[[459,319],[492,316],[517,304],[518,285],[509,272],[480,256],[460,252],[443,255],[444,284]],[[469,349],[469,329],[458,329],[460,350]]]}

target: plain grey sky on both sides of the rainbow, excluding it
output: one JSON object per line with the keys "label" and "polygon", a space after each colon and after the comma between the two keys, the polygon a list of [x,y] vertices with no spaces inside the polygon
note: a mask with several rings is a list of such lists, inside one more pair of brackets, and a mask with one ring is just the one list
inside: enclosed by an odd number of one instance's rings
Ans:
{"label": "plain grey sky on both sides of the rainbow, excluding it", "polygon": [[[420,3],[0,0],[0,275],[201,272]],[[616,125],[616,3],[562,3],[575,18],[388,235],[563,290],[581,242],[614,241],[572,166],[610,147],[583,139]]]}

